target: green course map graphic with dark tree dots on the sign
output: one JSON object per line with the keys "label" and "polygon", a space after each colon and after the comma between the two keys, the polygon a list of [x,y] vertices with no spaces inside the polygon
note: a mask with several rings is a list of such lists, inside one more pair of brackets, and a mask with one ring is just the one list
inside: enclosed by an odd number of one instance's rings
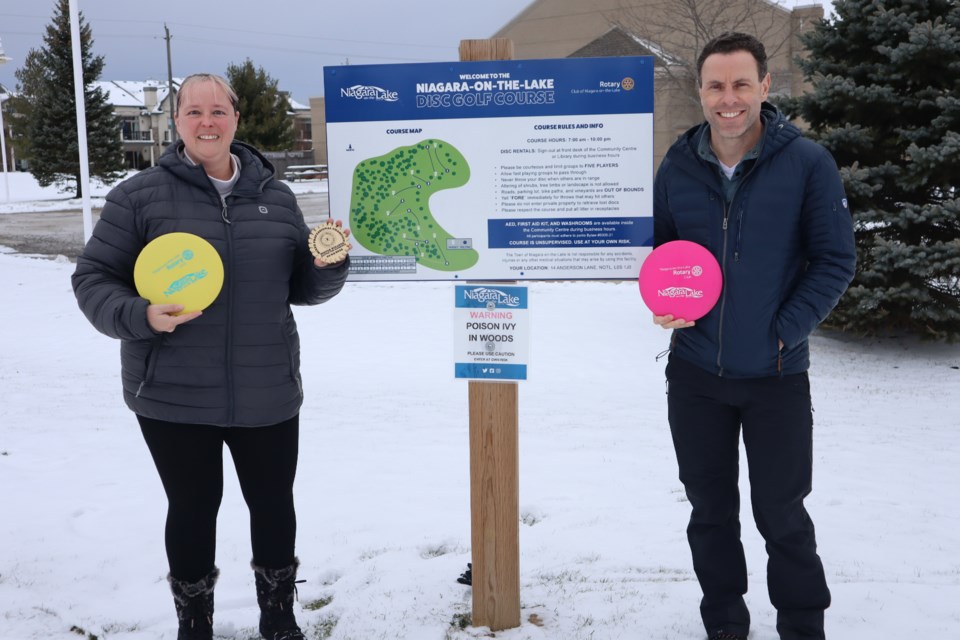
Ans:
{"label": "green course map graphic with dark tree dots on the sign", "polygon": [[350,229],[372,253],[413,256],[439,271],[477,263],[472,241],[448,233],[430,211],[430,196],[470,179],[466,159],[443,140],[423,140],[364,160],[353,172]]}

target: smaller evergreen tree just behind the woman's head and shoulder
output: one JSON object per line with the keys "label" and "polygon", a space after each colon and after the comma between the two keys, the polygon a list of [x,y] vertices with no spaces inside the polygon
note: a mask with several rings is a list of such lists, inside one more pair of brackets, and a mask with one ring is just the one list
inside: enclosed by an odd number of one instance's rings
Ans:
{"label": "smaller evergreen tree just behind the woman's head and shoulder", "polygon": [[285,151],[293,146],[290,101],[277,89],[263,67],[254,69],[248,58],[242,65],[227,67],[227,79],[240,99],[237,140],[264,151]]}

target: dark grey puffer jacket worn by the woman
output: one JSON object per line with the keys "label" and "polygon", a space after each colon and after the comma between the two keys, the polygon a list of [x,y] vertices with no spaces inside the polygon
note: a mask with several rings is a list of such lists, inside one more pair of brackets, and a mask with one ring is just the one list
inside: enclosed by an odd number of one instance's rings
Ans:
{"label": "dark grey puffer jacket worn by the woman", "polygon": [[[121,340],[123,397],[138,415],[185,424],[266,426],[296,415],[303,401],[300,338],[291,304],[339,293],[349,262],[318,269],[309,230],[290,189],[253,147],[234,142],[240,177],[220,197],[202,167],[173,145],[159,166],[107,195],[77,259],[73,289],[98,331]],[[143,247],[193,233],[223,260],[220,295],[199,318],[158,334],[133,281]]]}

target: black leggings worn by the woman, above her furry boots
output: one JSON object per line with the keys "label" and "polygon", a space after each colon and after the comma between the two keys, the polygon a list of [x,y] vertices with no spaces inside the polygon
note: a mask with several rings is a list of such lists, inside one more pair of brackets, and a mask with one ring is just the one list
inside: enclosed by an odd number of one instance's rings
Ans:
{"label": "black leggings worn by the woman, above her furry boots", "polygon": [[137,420],[167,494],[165,539],[173,577],[195,582],[214,567],[224,443],[250,509],[253,561],[272,569],[293,562],[299,416],[270,427]]}

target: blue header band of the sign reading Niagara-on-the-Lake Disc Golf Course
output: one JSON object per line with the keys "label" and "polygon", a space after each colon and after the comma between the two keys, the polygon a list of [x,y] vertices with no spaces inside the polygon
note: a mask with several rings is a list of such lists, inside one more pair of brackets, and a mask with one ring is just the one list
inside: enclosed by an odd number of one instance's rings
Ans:
{"label": "blue header band of the sign reading Niagara-on-the-Lake Disc Golf Course", "polygon": [[328,123],[653,113],[652,57],[324,67],[323,84]]}

